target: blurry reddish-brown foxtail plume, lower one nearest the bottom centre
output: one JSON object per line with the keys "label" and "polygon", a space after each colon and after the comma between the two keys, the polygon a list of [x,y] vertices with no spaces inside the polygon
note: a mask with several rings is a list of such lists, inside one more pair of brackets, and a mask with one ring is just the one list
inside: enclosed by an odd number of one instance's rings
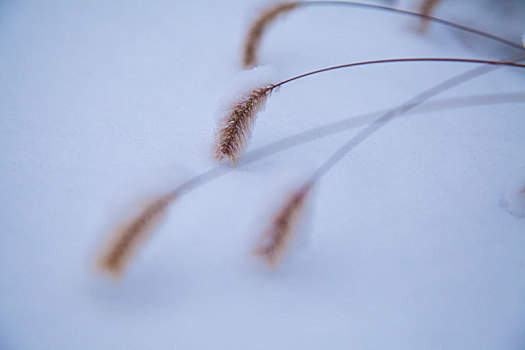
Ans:
{"label": "blurry reddish-brown foxtail plume, lower one nearest the bottom centre", "polygon": [[271,268],[279,265],[297,231],[310,189],[305,186],[289,195],[253,250]]}

